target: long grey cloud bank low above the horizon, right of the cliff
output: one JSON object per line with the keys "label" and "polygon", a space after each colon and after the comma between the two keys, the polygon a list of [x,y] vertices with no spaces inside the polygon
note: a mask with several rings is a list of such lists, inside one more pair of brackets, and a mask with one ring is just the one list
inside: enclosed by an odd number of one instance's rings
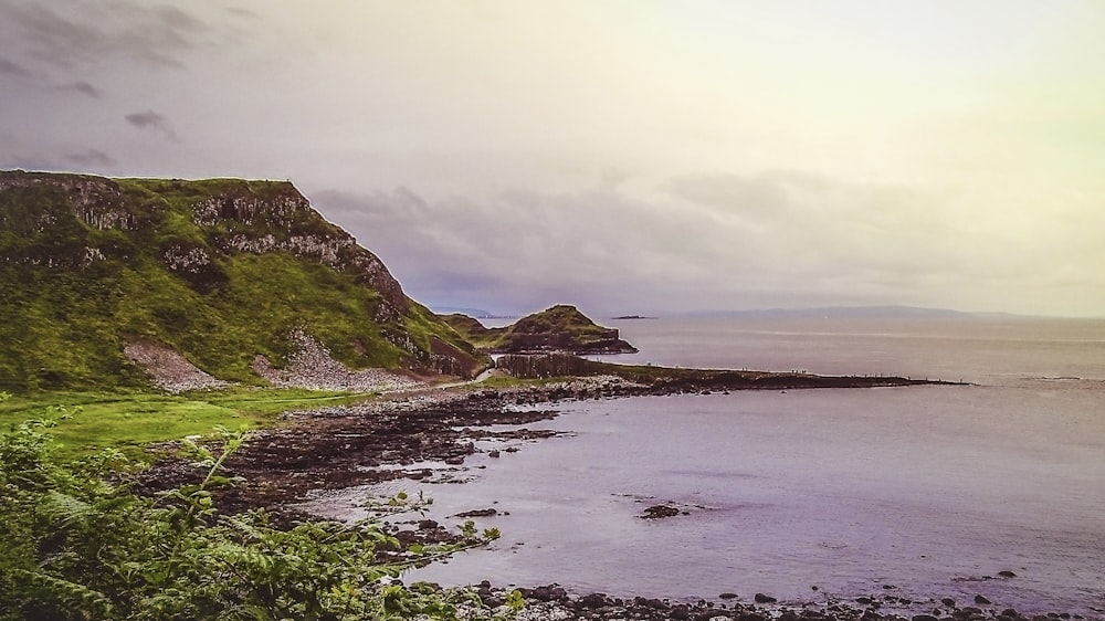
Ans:
{"label": "long grey cloud bank low above the horizon, right of the cliff", "polygon": [[986,223],[965,225],[959,207],[930,191],[801,171],[702,173],[652,190],[608,185],[484,200],[431,201],[407,188],[313,199],[417,299],[503,313],[558,302],[614,314],[861,304],[985,309],[998,287],[1015,286],[987,274],[1007,270],[1014,256],[1040,259],[1042,243],[979,238]]}

